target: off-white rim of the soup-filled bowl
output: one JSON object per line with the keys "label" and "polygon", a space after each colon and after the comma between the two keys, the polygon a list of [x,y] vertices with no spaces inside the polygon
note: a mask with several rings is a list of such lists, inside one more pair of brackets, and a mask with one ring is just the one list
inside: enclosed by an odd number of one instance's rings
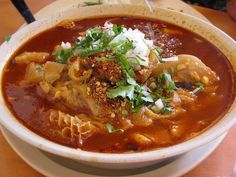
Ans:
{"label": "off-white rim of the soup-filled bowl", "polygon": [[[90,7],[82,7],[80,10],[101,10],[101,8],[106,7],[106,9],[110,9],[110,8],[130,8],[131,10],[133,8],[137,9],[143,9],[145,11],[146,14],[135,14],[133,16],[139,16],[139,17],[144,17],[144,18],[150,18],[147,17],[147,14],[151,13],[151,12],[147,12],[147,8],[143,7],[143,6],[134,6],[134,5],[120,5],[120,4],[114,4],[114,5],[100,5],[100,6],[90,6]],[[78,9],[78,8],[77,8]],[[70,11],[70,12],[69,12]],[[24,33],[29,33],[31,31],[31,29],[35,29],[37,28],[38,25],[43,24],[43,23],[49,23],[50,24],[50,19],[54,20],[53,23],[57,24],[59,21],[56,21],[56,16],[58,15],[62,15],[64,13],[73,13],[74,11],[76,11],[76,9],[73,9],[71,12],[71,9],[59,12],[59,13],[55,13],[51,16],[51,18],[43,18],[39,21],[33,22],[30,25],[27,25],[26,27],[20,29],[19,31],[17,31],[15,34],[12,35],[12,39],[9,43],[4,42],[2,44],[2,46],[0,47],[0,56],[3,55],[4,58],[8,58],[13,54],[13,52],[8,52],[7,54],[1,54],[2,51],[8,51],[8,50],[13,50],[10,47],[10,44],[13,42],[16,42],[16,40],[23,35]],[[202,26],[206,26],[209,30],[212,30],[212,32],[214,33],[218,33],[221,34],[223,36],[223,38],[229,42],[230,44],[233,45],[234,48],[236,48],[236,42],[229,37],[225,32],[221,31],[220,29],[218,29],[217,27],[213,26],[212,24],[205,22],[204,20],[201,20],[197,17],[193,17],[191,15],[187,15],[187,14],[183,14],[181,12],[177,12],[177,11],[173,11],[173,10],[169,10],[169,9],[165,9],[165,8],[155,8],[154,9],[154,13],[160,11],[162,13],[170,13],[174,16],[179,16],[180,18],[184,18],[187,21],[196,21],[198,22],[198,24],[202,25]],[[119,12],[119,14],[117,14],[118,16],[124,16],[126,15],[126,13],[122,13]],[[106,15],[100,15],[100,16],[106,16]],[[111,15],[113,16],[113,15]],[[92,17],[92,16],[90,16]],[[90,18],[89,16],[87,18]],[[152,18],[155,19],[155,17],[152,16]],[[159,19],[160,17],[156,17],[156,19]],[[80,18],[76,18],[76,19],[80,19]],[[170,22],[168,22],[170,23]],[[174,22],[172,23],[174,24]],[[178,24],[175,24],[178,25]],[[53,27],[54,25],[50,25],[51,27]],[[46,28],[48,29],[48,27]],[[35,34],[38,34],[42,31],[44,31],[45,29],[40,29],[40,30],[36,30]],[[34,34],[34,35],[35,35]],[[29,37],[28,39],[30,39],[31,37]],[[27,40],[28,40],[27,39]],[[26,40],[26,41],[27,41]],[[22,43],[20,44],[16,44],[16,48],[18,49],[20,46],[22,45]],[[8,60],[7,59],[7,60]],[[236,60],[236,58],[235,58]],[[0,61],[0,71],[1,71],[1,83],[2,83],[2,72],[3,72],[3,68],[4,65],[6,64],[6,61]],[[235,103],[232,103],[230,110],[223,116],[223,117],[230,117],[228,121],[223,121],[223,118],[221,118],[221,120],[219,120],[215,125],[213,125],[212,127],[210,127],[208,130],[204,131],[203,133],[201,133],[200,135],[198,135],[195,138],[192,138],[190,140],[187,140],[185,142],[182,142],[180,144],[176,144],[173,146],[169,146],[166,148],[162,148],[162,149],[155,149],[155,150],[150,150],[150,151],[145,151],[145,152],[133,152],[133,153],[98,153],[98,152],[90,152],[90,151],[83,151],[80,149],[73,149],[70,147],[66,147],[57,143],[54,143],[50,140],[45,139],[44,137],[39,136],[38,134],[34,133],[33,131],[31,131],[30,129],[26,128],[22,123],[20,123],[15,117],[14,115],[10,112],[10,110],[8,109],[8,107],[5,105],[5,101],[3,99],[2,96],[2,84],[1,84],[1,93],[0,93],[0,112],[1,114],[4,113],[3,115],[0,115],[0,122],[2,123],[2,125],[4,127],[6,127],[10,132],[12,132],[14,135],[16,135],[18,138],[22,139],[23,141],[50,153],[59,155],[59,156],[64,156],[64,157],[68,157],[71,159],[76,159],[76,160],[81,160],[81,161],[87,161],[87,162],[102,162],[102,163],[130,163],[130,162],[146,162],[146,161],[154,161],[157,159],[164,159],[167,157],[172,157],[172,156],[176,156],[182,153],[185,153],[187,151],[190,151],[194,148],[197,148],[203,144],[206,144],[210,141],[212,141],[213,139],[215,139],[216,137],[220,136],[221,134],[223,134],[224,132],[226,132],[230,127],[232,127],[234,125],[234,123],[236,123],[236,116],[233,116],[233,114],[236,115],[236,108],[233,109],[233,105]],[[9,121],[7,121],[7,119],[5,119],[5,115],[10,116],[11,117],[11,122],[9,123]],[[235,117],[235,118],[234,118]],[[225,119],[224,119],[225,120]],[[221,124],[221,128],[217,129],[216,125],[220,125]],[[20,130],[20,131],[19,131]],[[205,136],[203,136],[205,135]]]}

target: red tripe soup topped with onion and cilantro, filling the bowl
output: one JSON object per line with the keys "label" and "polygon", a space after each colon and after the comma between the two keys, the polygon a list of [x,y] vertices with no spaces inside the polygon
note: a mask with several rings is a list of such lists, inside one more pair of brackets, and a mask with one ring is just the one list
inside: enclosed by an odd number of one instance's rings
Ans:
{"label": "red tripe soup topped with onion and cilantro, filling the bowl", "polygon": [[2,80],[33,132],[86,151],[163,148],[209,128],[233,101],[233,70],[202,37],[151,19],[67,20],[23,44]]}

